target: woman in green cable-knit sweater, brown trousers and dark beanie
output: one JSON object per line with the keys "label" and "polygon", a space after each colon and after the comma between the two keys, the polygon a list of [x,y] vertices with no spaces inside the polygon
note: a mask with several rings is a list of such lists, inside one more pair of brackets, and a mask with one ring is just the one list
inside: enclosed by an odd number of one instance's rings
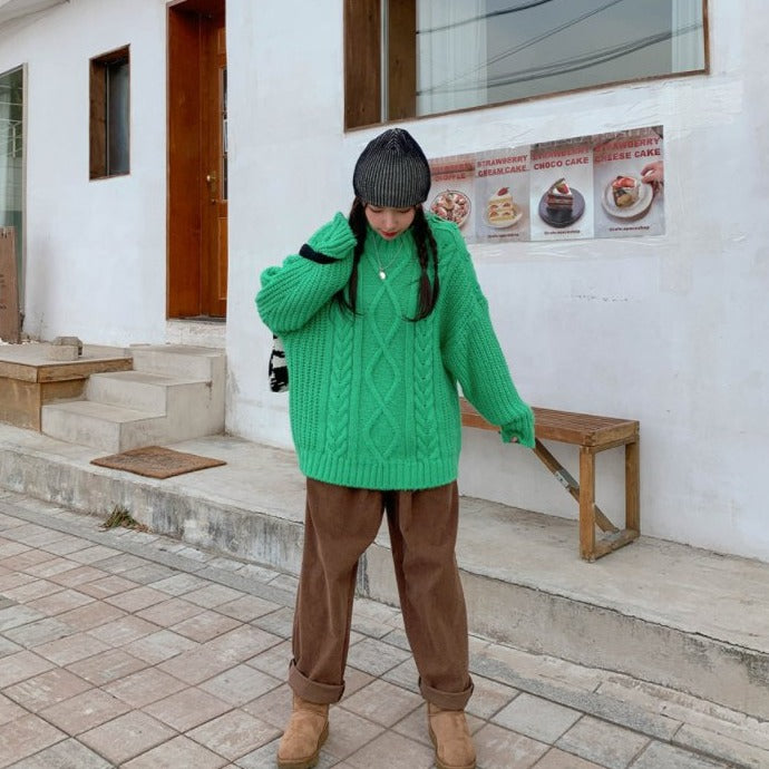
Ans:
{"label": "woman in green cable-knit sweater, brown trousers and dark beanie", "polygon": [[440,769],[471,769],[473,692],[455,558],[457,383],[504,441],[534,445],[455,224],[426,214],[430,168],[401,128],[356,164],[338,213],[262,274],[264,323],[285,348],[291,427],[306,476],[302,571],[278,765],[315,766],[344,691],[358,561],[387,514],[406,632]]}

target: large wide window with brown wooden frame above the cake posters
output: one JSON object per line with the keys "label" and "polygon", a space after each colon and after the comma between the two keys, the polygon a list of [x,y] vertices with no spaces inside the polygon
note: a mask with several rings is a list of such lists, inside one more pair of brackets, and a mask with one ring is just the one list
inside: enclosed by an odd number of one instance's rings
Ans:
{"label": "large wide window with brown wooden frame above the cake posters", "polygon": [[704,0],[347,0],[345,127],[708,70]]}

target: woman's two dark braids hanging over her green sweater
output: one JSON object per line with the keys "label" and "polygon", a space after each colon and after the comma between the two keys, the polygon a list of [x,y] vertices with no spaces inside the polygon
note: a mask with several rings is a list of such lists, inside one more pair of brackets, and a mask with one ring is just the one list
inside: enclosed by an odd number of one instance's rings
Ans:
{"label": "woman's two dark braids hanging over her green sweater", "polygon": [[[345,289],[337,293],[335,300],[344,310],[349,310],[357,314],[358,300],[358,263],[363,253],[366,245],[366,235],[368,233],[368,220],[366,218],[366,203],[356,197],[350,208],[348,217],[352,234],[356,236],[356,249],[352,255],[352,271],[350,272],[350,280]],[[420,321],[427,318],[432,310],[435,310],[438,301],[438,246],[432,232],[427,223],[425,211],[421,205],[415,208],[413,222],[411,223],[411,232],[413,241],[417,246],[417,257],[419,259],[419,266],[421,274],[419,276],[419,294],[417,305],[417,317],[410,318],[412,322]],[[429,272],[432,267],[432,281],[430,281]]]}

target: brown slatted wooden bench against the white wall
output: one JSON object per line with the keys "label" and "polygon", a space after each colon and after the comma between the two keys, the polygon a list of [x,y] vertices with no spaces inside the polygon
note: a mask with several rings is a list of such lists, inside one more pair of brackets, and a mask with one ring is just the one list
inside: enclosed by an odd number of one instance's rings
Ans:
{"label": "brown slatted wooden bench against the white wall", "polygon": [[[460,399],[461,422],[499,432],[473,406]],[[627,545],[639,536],[639,422],[633,419],[596,417],[553,409],[534,408],[536,441],[534,454],[580,504],[580,555],[595,561],[606,553]],[[547,450],[543,440],[580,447],[580,480]],[[595,504],[595,456],[607,449],[625,448],[625,526],[617,528]],[[605,536],[596,538],[596,525]]]}

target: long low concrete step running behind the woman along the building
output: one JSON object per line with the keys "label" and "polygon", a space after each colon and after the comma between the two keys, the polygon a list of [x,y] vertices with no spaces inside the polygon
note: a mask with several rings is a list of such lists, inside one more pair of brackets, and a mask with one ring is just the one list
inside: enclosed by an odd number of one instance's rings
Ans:
{"label": "long low concrete step running behind the woman along the building", "polygon": [[[304,484],[293,452],[227,436],[173,448],[226,465],[142,478],[0,426],[0,486],[101,516],[123,505],[154,532],[298,574]],[[465,496],[460,509],[474,632],[769,719],[769,564],[644,536],[591,564],[574,520]],[[386,529],[361,561],[359,593],[397,604]]]}

